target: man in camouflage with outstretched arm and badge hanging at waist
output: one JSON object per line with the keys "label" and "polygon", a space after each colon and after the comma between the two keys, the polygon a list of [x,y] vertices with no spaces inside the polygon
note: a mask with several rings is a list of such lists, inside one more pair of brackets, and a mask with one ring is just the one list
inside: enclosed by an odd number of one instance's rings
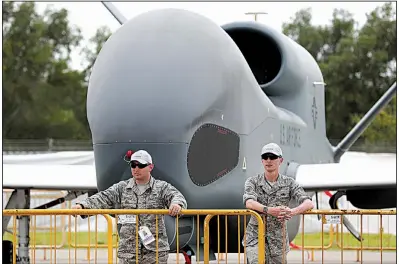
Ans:
{"label": "man in camouflage with outstretched arm and badge hanging at waist", "polygon": [[[187,208],[184,196],[171,184],[154,179],[150,172],[153,168],[151,156],[143,150],[135,152],[130,161],[133,178],[120,181],[110,188],[99,192],[75,208],[96,209],[164,209],[169,208],[169,214],[177,215],[180,210]],[[119,231],[118,258],[121,264],[136,263],[136,219],[140,227],[149,228],[156,238],[156,215],[126,215],[118,216],[121,229]],[[139,263],[156,263],[156,241],[143,243],[138,236]],[[164,216],[158,215],[158,263],[167,263],[169,243],[166,234]]]}

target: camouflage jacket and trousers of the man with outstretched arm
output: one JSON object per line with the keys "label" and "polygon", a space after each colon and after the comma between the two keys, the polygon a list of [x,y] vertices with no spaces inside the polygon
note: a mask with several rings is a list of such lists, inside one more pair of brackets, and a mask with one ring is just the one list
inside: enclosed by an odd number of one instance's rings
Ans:
{"label": "camouflage jacket and trousers of the man with outstretched arm", "polygon": [[[136,181],[131,178],[120,181],[79,204],[87,209],[166,209],[171,204],[179,204],[182,209],[187,209],[186,199],[175,187],[165,181],[156,180],[152,176],[142,195],[140,195]],[[154,238],[156,238],[155,217],[156,215],[138,215],[139,227],[147,226]],[[136,252],[136,224],[122,224],[119,239],[118,257],[133,258]],[[140,250],[142,246],[140,236],[138,236],[138,241]],[[156,241],[145,247],[155,251]],[[164,215],[158,215],[158,251],[168,251],[169,249]]]}

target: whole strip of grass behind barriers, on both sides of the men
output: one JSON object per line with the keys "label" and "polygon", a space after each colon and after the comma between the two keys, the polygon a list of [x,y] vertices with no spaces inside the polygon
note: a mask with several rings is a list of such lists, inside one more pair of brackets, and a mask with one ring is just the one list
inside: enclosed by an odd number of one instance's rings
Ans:
{"label": "whole strip of grass behind barriers, on both sides of the men", "polygon": [[[50,236],[51,235],[51,236]],[[64,243],[64,248],[68,248],[68,232],[65,232],[65,243]],[[34,237],[35,236],[35,237]],[[56,243],[54,243],[54,237],[56,236]],[[368,248],[368,247],[376,247],[378,250],[380,247],[380,236],[378,234],[364,234],[363,235],[364,240],[363,240],[363,248]],[[50,232],[36,232],[34,234],[33,232],[30,232],[30,245],[60,245],[62,243],[62,233],[57,232],[55,235],[54,233]],[[309,246],[321,246],[321,233],[311,233],[311,234],[305,234],[304,237],[304,245],[305,247]],[[3,240],[11,240],[12,241],[12,234],[6,233],[3,236]],[[116,244],[117,237],[113,236],[113,244]],[[383,234],[382,237],[383,240],[383,247],[391,247],[396,249],[396,236],[395,235],[390,235],[390,234]],[[18,238],[17,238],[18,241]],[[76,242],[75,242],[76,241]],[[91,232],[90,233],[90,247],[95,247],[97,241],[97,245],[100,245],[100,247],[104,247],[108,243],[107,239],[107,233],[105,232],[99,232],[97,233],[97,239],[95,237],[95,233]],[[324,246],[325,249],[331,242],[331,236],[330,233],[325,232],[324,233]],[[340,247],[338,247],[337,242],[341,244],[341,237],[338,236],[338,239],[336,235],[333,235],[333,243],[332,247],[329,250],[340,250]],[[71,245],[75,246],[75,243],[77,245],[88,245],[89,244],[89,233],[88,232],[71,232]],[[301,246],[302,245],[302,234],[298,233],[297,237],[293,241],[294,244]],[[351,234],[349,233],[344,233],[343,236],[343,245],[344,247],[359,247],[360,248],[360,242],[357,241]]]}

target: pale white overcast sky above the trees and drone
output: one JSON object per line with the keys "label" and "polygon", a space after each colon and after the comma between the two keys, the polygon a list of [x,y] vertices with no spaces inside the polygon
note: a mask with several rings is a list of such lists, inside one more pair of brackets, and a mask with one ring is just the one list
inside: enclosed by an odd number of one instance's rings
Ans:
{"label": "pale white overcast sky above the trees and drone", "polygon": [[[328,24],[335,8],[343,8],[354,15],[359,26],[366,21],[366,13],[371,12],[383,2],[113,2],[115,7],[127,18],[160,8],[181,8],[197,12],[223,25],[233,21],[254,20],[254,16],[246,12],[266,12],[258,16],[258,22],[281,31],[282,24],[289,22],[295,13],[304,8],[311,8],[313,24]],[[101,26],[108,26],[112,32],[119,28],[117,20],[108,12],[101,2],[37,2],[37,10],[41,13],[48,5],[53,8],[65,8],[69,11],[70,23],[81,28],[87,45],[88,39],[94,36]],[[73,51],[72,68],[82,69],[83,56],[79,50]]]}

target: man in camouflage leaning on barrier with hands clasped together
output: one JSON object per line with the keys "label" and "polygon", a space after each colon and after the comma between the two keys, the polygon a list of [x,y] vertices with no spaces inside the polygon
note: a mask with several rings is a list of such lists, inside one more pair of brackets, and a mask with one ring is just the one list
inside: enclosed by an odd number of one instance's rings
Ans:
{"label": "man in camouflage leaning on barrier with hands clasped together", "polygon": [[[248,178],[245,182],[243,202],[248,209],[266,214],[265,260],[267,264],[286,263],[290,250],[286,220],[313,208],[311,197],[294,179],[279,173],[283,161],[281,148],[270,143],[262,148],[264,173]],[[290,209],[295,199],[300,205]],[[248,264],[258,263],[258,221],[251,216],[243,239]]]}

